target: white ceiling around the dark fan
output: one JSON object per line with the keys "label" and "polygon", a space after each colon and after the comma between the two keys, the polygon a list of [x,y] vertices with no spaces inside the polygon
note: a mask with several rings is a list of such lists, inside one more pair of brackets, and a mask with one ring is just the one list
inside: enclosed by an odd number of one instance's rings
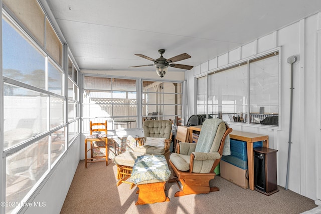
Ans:
{"label": "white ceiling around the dark fan", "polygon": [[[51,0],[56,18],[80,69],[145,71],[135,56],[197,66],[321,10],[320,0]],[[169,68],[169,72],[184,71]]]}

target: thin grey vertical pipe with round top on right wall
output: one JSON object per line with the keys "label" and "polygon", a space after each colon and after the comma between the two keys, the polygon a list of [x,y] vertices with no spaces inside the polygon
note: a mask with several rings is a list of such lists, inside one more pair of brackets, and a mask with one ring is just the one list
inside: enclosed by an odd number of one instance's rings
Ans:
{"label": "thin grey vertical pipe with round top on right wall", "polygon": [[291,56],[287,58],[287,63],[291,64],[291,87],[290,87],[290,123],[289,123],[289,145],[287,153],[287,169],[286,169],[286,181],[285,181],[285,190],[287,190],[288,178],[289,178],[289,168],[290,168],[290,154],[291,154],[291,135],[292,135],[292,108],[293,108],[293,63],[295,63],[296,57]]}

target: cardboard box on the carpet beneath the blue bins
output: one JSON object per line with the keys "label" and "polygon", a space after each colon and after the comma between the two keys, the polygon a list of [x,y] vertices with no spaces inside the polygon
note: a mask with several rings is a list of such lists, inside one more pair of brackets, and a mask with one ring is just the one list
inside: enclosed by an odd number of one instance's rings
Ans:
{"label": "cardboard box on the carpet beneath the blue bins", "polygon": [[231,163],[228,163],[224,160],[220,161],[220,175],[226,180],[231,181],[232,183],[247,189],[249,188],[249,180],[247,169],[241,169],[237,166],[234,166]]}

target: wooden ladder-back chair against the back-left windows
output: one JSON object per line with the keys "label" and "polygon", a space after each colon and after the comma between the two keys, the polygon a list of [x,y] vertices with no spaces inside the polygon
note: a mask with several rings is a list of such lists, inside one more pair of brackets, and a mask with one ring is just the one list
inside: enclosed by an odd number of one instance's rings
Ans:
{"label": "wooden ladder-back chair against the back-left windows", "polygon": [[[89,149],[87,148],[88,142],[90,142]],[[94,156],[94,149],[106,149],[106,155]],[[90,151],[90,158],[87,157],[88,151]],[[105,123],[92,123],[90,121],[90,135],[85,138],[85,167],[87,168],[87,163],[101,161],[106,161],[106,166],[108,165],[107,120],[105,120]]]}

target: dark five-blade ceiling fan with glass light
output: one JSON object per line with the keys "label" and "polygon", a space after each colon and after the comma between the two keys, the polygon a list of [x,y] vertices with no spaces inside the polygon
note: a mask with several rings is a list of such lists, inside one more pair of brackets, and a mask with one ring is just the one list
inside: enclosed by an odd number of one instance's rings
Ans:
{"label": "dark five-blade ceiling fan with glass light", "polygon": [[[168,67],[174,67],[174,68],[180,68],[180,69],[186,69],[186,70],[191,70],[193,68],[193,66],[190,66],[190,65],[174,64],[174,62],[181,61],[181,60],[186,60],[188,58],[191,58],[191,56],[188,55],[187,53],[177,55],[177,56],[172,57],[170,59],[166,59],[166,58],[163,57],[163,54],[165,53],[165,49],[159,49],[158,53],[161,54],[161,57],[159,57],[156,60],[154,60],[154,59],[152,59],[150,57],[146,57],[145,55],[142,55],[142,54],[135,54],[138,57],[142,57],[144,59],[153,61],[154,64],[129,66],[129,68],[136,68],[136,67],[143,67],[143,66],[155,66],[156,67],[156,72],[157,72],[159,77],[164,77],[165,76],[165,74],[166,74],[166,72],[168,70]],[[170,63],[173,63],[173,64],[170,64]]]}

